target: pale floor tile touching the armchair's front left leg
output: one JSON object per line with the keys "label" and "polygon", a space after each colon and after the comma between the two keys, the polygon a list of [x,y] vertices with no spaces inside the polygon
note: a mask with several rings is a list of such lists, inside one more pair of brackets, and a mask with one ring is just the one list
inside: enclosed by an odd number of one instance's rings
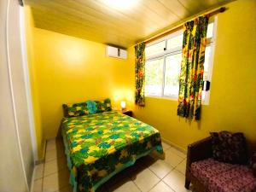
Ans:
{"label": "pale floor tile touching the armchair's front left leg", "polygon": [[170,172],[163,181],[168,184],[173,190],[177,192],[188,192],[189,190],[185,189],[185,176],[181,172],[173,170]]}

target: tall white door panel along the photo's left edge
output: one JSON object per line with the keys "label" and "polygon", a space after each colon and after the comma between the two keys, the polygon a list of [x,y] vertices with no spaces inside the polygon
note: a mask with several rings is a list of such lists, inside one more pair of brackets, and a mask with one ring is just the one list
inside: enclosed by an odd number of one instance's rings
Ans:
{"label": "tall white door panel along the photo's left edge", "polygon": [[29,191],[34,166],[18,0],[0,1],[0,191]]}

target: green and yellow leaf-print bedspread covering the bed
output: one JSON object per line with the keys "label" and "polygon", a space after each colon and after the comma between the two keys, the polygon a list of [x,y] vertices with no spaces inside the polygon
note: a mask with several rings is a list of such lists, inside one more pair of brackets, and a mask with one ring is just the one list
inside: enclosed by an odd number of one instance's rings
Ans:
{"label": "green and yellow leaf-print bedspread covering the bed", "polygon": [[74,192],[95,191],[152,150],[163,153],[159,131],[115,111],[64,118],[61,132]]}

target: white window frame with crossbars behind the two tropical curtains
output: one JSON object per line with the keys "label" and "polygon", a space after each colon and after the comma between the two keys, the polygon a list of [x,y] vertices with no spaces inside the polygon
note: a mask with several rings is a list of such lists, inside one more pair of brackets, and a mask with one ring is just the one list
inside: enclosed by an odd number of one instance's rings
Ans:
{"label": "white window frame with crossbars behind the two tropical curtains", "polygon": [[[213,32],[212,32],[212,38],[207,38],[207,46],[211,46],[211,55],[210,55],[210,61],[209,61],[209,68],[208,68],[208,75],[207,75],[207,81],[212,82],[212,68],[213,68],[213,57],[214,57],[214,52],[215,52],[215,42],[216,42],[216,33],[217,33],[217,21],[218,21],[218,17],[215,16],[213,18],[213,20],[211,20],[209,23],[213,23]],[[177,32],[173,32],[170,35],[167,35],[164,38],[160,38],[157,39],[154,42],[151,42],[149,44],[146,44],[146,48],[154,45],[154,44],[158,44],[162,41],[166,41],[166,47],[167,47],[167,40],[169,38],[173,38],[175,36],[178,36],[180,34],[183,33],[183,30],[179,30]],[[152,95],[148,95],[147,93],[145,93],[146,97],[153,97],[153,98],[161,98],[161,99],[168,99],[168,100],[174,100],[177,101],[177,96],[165,96],[164,95],[164,90],[165,90],[165,75],[166,75],[166,57],[169,55],[177,55],[182,53],[182,45],[178,46],[174,49],[167,49],[164,50],[163,52],[161,52],[160,54],[156,54],[156,55],[149,55],[146,56],[146,61],[154,61],[160,58],[164,58],[164,63],[163,63],[163,81],[162,81],[162,90],[161,90],[161,95],[160,96],[152,96]],[[211,87],[210,87],[211,88]],[[210,102],[210,90],[207,90],[205,92],[205,99],[202,100],[202,104],[203,105],[209,105]]]}

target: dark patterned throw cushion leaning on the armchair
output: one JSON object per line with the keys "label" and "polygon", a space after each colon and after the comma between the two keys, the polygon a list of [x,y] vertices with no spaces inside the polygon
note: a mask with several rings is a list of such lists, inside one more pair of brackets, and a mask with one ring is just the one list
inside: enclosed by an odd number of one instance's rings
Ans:
{"label": "dark patterned throw cushion leaning on the armchair", "polygon": [[241,132],[211,132],[212,156],[215,160],[231,164],[247,163],[246,139]]}

